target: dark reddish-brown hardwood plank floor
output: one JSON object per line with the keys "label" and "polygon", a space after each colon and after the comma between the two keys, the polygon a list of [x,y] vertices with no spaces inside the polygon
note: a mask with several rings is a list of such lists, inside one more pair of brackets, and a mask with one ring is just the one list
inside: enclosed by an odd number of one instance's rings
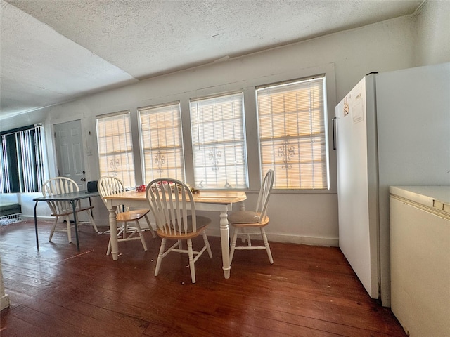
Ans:
{"label": "dark reddish-brown hardwood plank floor", "polygon": [[[105,230],[106,228],[103,228]],[[221,269],[219,237],[213,258],[195,264],[171,253],[153,275],[160,239],[146,232],[105,256],[108,235],[79,230],[80,251],[39,223],[1,227],[1,263],[11,306],[1,312],[0,336],[406,336],[389,308],[368,297],[338,248],[271,242],[265,251],[237,251],[230,279]],[[200,238],[201,239],[201,238]],[[194,243],[195,244],[195,243]]]}

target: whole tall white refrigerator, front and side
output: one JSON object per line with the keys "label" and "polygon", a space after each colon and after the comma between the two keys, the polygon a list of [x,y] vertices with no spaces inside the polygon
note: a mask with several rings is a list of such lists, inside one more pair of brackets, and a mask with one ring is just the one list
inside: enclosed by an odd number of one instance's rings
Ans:
{"label": "whole tall white refrigerator, front and side", "polygon": [[450,63],[368,74],[336,106],[339,246],[390,306],[390,185],[450,185]]}

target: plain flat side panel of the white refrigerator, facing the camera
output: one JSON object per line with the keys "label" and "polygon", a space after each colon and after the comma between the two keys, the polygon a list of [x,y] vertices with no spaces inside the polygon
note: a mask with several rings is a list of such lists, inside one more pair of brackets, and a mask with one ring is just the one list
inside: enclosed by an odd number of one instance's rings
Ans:
{"label": "plain flat side panel of the white refrigerator, facing the camera", "polygon": [[390,185],[450,185],[450,63],[376,76],[383,305],[390,305]]}

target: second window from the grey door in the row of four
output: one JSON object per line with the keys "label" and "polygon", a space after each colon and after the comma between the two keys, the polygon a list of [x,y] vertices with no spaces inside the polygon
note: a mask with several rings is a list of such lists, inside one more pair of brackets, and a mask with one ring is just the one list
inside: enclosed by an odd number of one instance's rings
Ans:
{"label": "second window from the grey door in the row of four", "polygon": [[139,110],[143,179],[184,180],[184,153],[179,103]]}

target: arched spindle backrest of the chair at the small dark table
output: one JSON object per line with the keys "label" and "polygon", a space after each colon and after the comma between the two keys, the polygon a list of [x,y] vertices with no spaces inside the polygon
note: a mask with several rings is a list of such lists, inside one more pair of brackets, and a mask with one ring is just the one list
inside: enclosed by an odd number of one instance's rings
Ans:
{"label": "arched spindle backrest of the chair at the small dark table", "polygon": [[[79,187],[75,180],[66,177],[51,178],[42,185],[42,195],[44,197],[77,191],[79,191]],[[69,201],[47,201],[47,204],[53,214],[72,212],[72,204]]]}

